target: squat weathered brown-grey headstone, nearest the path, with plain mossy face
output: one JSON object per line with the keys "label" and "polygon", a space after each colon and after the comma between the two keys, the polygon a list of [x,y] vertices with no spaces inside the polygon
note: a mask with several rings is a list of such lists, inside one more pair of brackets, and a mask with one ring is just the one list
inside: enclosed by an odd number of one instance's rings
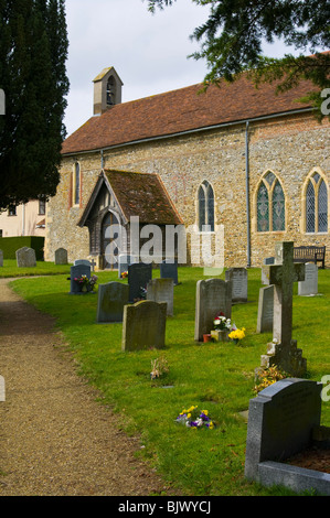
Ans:
{"label": "squat weathered brown-grey headstone, nearest the path, with plain mossy face", "polygon": [[164,347],[166,302],[140,301],[124,307],[123,350]]}

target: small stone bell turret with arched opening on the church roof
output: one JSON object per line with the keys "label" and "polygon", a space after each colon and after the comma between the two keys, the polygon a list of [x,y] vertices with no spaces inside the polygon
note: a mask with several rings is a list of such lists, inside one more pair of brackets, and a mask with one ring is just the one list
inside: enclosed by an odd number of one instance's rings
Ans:
{"label": "small stone bell turret with arched opening on the church roof", "polygon": [[113,66],[104,68],[94,83],[94,115],[102,115],[121,102],[124,83]]}

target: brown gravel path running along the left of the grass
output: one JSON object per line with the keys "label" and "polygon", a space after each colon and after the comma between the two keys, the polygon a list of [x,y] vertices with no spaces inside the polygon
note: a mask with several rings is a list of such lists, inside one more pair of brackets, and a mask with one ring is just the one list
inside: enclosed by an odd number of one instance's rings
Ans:
{"label": "brown gravel path running along the left of the grass", "polygon": [[[77,376],[51,317],[0,279],[0,496],[147,496],[166,490]],[[169,492],[168,492],[169,494]]]}

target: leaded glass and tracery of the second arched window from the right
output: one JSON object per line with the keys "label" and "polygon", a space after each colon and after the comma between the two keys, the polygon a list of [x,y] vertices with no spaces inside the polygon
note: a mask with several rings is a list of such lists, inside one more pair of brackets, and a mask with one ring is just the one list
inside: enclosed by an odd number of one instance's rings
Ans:
{"label": "leaded glass and tracery of the second arched window from the right", "polygon": [[269,171],[257,191],[257,231],[285,230],[285,195],[276,175]]}

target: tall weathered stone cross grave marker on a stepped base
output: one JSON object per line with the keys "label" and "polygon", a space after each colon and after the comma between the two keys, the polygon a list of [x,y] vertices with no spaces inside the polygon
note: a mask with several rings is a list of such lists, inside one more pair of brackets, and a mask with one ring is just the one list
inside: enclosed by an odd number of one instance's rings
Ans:
{"label": "tall weathered stone cross grave marker on a stepped base", "polygon": [[281,265],[266,267],[269,283],[274,284],[274,320],[273,342],[267,346],[267,354],[262,356],[262,367],[276,365],[291,376],[301,377],[307,363],[292,339],[292,292],[294,282],[305,279],[305,265],[294,263],[292,241],[277,244],[276,252]]}

